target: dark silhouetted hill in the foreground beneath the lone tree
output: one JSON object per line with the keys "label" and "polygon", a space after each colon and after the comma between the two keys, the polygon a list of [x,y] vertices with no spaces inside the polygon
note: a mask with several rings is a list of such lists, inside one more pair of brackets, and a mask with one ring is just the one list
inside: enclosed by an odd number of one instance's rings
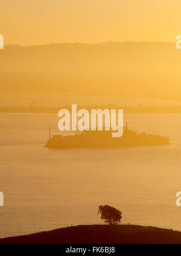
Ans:
{"label": "dark silhouetted hill in the foreground beneath the lone tree", "polygon": [[81,225],[2,238],[0,243],[181,243],[181,232],[137,225]]}

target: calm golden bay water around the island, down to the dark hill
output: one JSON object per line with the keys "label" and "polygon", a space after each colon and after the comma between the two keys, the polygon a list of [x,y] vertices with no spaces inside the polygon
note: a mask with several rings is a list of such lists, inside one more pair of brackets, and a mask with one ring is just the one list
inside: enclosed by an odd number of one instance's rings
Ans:
{"label": "calm golden bay water around the island, down to the dark hill", "polygon": [[56,114],[0,114],[0,237],[103,223],[98,205],[122,211],[122,223],[181,231],[181,115],[129,114],[136,132],[166,135],[171,145],[52,150],[43,145]]}

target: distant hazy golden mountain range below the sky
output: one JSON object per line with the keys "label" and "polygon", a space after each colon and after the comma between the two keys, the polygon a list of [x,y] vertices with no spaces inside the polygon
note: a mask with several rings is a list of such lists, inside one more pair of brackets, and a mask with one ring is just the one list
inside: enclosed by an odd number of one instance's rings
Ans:
{"label": "distant hazy golden mountain range below the sky", "polygon": [[174,43],[7,45],[0,54],[1,91],[181,98]]}

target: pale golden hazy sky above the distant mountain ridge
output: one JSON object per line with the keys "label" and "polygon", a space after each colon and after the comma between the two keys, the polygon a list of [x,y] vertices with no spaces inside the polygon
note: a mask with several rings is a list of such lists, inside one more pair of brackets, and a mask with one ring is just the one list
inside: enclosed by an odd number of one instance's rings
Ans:
{"label": "pale golden hazy sky above the distant mountain ridge", "polygon": [[180,0],[1,0],[4,43],[175,42]]}

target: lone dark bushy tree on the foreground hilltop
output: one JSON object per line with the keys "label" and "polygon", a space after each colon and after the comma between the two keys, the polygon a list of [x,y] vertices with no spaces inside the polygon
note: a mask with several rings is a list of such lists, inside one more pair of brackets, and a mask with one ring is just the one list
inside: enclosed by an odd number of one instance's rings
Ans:
{"label": "lone dark bushy tree on the foreground hilltop", "polygon": [[98,214],[101,214],[101,219],[109,225],[118,225],[121,222],[121,211],[109,205],[98,206]]}

